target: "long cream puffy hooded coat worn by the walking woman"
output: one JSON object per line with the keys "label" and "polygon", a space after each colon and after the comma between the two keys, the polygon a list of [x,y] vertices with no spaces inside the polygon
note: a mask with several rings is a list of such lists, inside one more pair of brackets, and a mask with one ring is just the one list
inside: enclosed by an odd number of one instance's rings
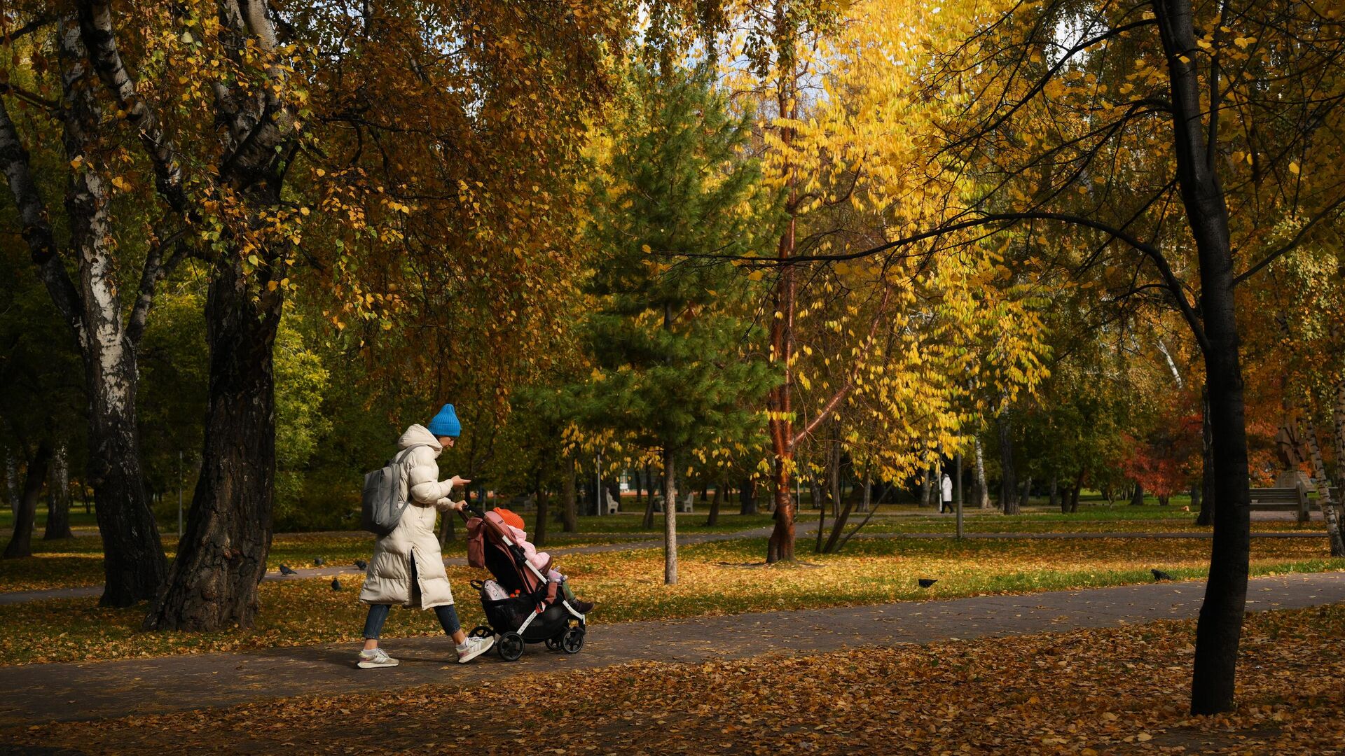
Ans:
{"label": "long cream puffy hooded coat worn by the walking woman", "polygon": [[[369,561],[364,588],[359,592],[359,600],[366,604],[429,609],[453,603],[453,591],[444,572],[444,554],[434,535],[434,515],[445,511],[449,517],[447,511],[452,504],[448,498],[452,484],[438,480],[438,464],[434,461],[444,447],[424,425],[412,425],[397,440],[398,453],[416,444],[426,445],[412,449],[399,465],[401,491],[409,504],[397,527],[374,545],[374,558]],[[412,560],[416,560],[418,595],[412,591]]]}

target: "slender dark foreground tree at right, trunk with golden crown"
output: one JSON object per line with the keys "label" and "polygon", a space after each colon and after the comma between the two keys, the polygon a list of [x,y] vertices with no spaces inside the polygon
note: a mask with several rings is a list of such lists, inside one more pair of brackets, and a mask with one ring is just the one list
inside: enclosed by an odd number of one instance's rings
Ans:
{"label": "slender dark foreground tree at right, trunk with golden crown", "polygon": [[[1345,204],[1328,178],[1345,98],[1330,75],[1338,13],[1274,0],[942,9],[963,42],[928,77],[928,96],[955,108],[927,191],[948,200],[880,252],[968,229],[1050,233],[1072,241],[1057,262],[1076,274],[1111,296],[1159,292],[1181,313],[1206,369],[1217,499],[1192,710],[1227,710],[1250,545],[1236,287]],[[954,178],[979,191],[944,191]]]}

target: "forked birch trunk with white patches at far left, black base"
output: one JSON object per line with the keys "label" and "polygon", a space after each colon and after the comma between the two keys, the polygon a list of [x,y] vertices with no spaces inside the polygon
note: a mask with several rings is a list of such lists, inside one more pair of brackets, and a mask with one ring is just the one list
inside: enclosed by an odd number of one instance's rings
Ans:
{"label": "forked birch trunk with white patches at far left, black base", "polygon": [[[93,97],[87,51],[78,27],[58,26],[62,74],[62,143],[71,163],[89,163],[86,145],[102,114]],[[148,287],[122,323],[116,261],[109,249],[108,192],[98,172],[73,171],[66,190],[70,248],[78,282],[70,278],[28,169],[28,155],[0,102],[0,167],[23,222],[23,238],[56,311],[79,346],[89,401],[89,483],[98,504],[104,545],[102,605],[126,607],[149,599],[164,574],[159,529],[149,511],[136,429],[136,347],[153,281],[160,269],[147,261]],[[152,273],[152,274],[149,274]]]}

